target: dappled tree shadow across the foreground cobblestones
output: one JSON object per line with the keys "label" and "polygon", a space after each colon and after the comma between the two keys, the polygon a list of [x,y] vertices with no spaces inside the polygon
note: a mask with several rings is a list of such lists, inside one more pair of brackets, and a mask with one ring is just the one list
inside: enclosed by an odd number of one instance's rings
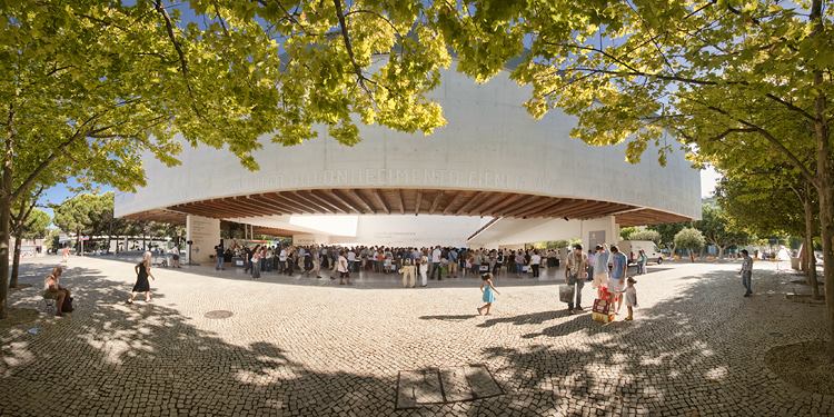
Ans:
{"label": "dappled tree shadow across the foreground cobblestones", "polygon": [[[37,282],[49,268],[24,269],[21,281]],[[834,399],[790,389],[762,360],[770,345],[808,335],[807,327],[794,326],[774,338],[773,322],[818,318],[821,311],[773,307],[764,295],[736,300],[739,284],[727,275],[705,274],[675,298],[638,309],[637,321],[629,324],[600,326],[586,314],[548,326],[566,311],[490,318],[479,325],[484,337],[502,329],[496,325],[546,326],[520,335],[515,346],[484,349],[484,361],[506,395],[395,413],[397,368],[388,369],[388,377],[317,371],[287,351],[315,346],[232,345],[176,309],[126,306],[121,300],[130,288],[125,282],[95,269],[70,268],[64,282],[79,300],[71,318],[44,319],[38,335],[18,328],[0,334],[0,415],[834,413]],[[20,291],[14,304],[37,301],[34,289]],[[370,350],[374,341],[368,344]],[[355,355],[332,353],[345,354]]]}

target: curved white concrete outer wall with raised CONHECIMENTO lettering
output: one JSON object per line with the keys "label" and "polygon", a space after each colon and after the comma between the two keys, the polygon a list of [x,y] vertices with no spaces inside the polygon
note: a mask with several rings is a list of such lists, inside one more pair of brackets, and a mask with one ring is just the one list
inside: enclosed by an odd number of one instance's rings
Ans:
{"label": "curved white concrete outer wall with raised CONHECIMENTO lettering", "polygon": [[[698,171],[683,155],[662,168],[649,147],[638,165],[625,146],[590,147],[570,139],[576,119],[558,110],[542,120],[522,107],[529,90],[499,73],[476,85],[445,71],[433,97],[448,125],[430,137],[360,127],[363,141],[345,147],[319,129],[296,147],[264,139],[256,172],[226,150],[187,149],[182,165],[167,168],[148,157],[148,186],[119,193],[117,216],[208,198],[314,188],[438,188],[524,192],[631,203],[701,216]],[[673,140],[673,139],[669,139]]]}

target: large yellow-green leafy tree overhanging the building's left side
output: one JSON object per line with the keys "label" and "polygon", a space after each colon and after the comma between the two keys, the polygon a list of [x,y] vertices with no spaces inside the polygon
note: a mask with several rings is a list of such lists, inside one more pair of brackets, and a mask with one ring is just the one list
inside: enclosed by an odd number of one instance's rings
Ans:
{"label": "large yellow-green leafy tree overhanging the building's left side", "polygon": [[430,133],[445,123],[426,96],[450,63],[453,33],[440,28],[458,12],[371,0],[4,3],[0,318],[8,208],[43,172],[131,190],[145,152],[171,165],[185,145],[228,149],[255,169],[261,136],[296,145],[322,126],[351,145],[355,120]]}

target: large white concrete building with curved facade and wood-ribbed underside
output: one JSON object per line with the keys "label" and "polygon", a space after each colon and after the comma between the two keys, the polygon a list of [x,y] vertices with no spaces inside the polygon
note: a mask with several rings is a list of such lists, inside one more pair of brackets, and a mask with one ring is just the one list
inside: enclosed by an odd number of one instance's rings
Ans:
{"label": "large white concrete building with curved facade and wood-ribbed underside", "polygon": [[433,96],[448,125],[430,137],[363,127],[354,147],[324,128],[296,147],[265,139],[256,172],[208,147],[173,168],[149,157],[147,187],[118,195],[116,215],[187,224],[198,259],[221,220],[298,244],[498,247],[610,242],[623,226],[701,216],[699,175],[683,155],[661,167],[649,148],[631,165],[624,146],[570,139],[576,119],[534,120],[522,107],[529,90],[508,72],[477,85],[449,70]]}

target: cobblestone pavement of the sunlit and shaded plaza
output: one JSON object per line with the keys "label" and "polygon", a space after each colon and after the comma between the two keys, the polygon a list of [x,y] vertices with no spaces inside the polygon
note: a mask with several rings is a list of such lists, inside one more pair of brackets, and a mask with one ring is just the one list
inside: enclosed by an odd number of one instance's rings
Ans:
{"label": "cobblestone pavement of the sunlit and shaded plaza", "polygon": [[[802,286],[765,262],[748,299],[737,264],[649,267],[636,320],[602,326],[567,315],[553,281],[509,277],[485,317],[471,278],[340,287],[206,268],[155,269],[152,302],[129,306],[132,265],[93,258],[70,259],[77,310],[54,319],[38,287],[57,261],[27,260],[36,286],[10,296],[44,314],[0,330],[2,416],[834,415],[764,365],[772,346],[824,337],[824,307],[786,300]],[[396,409],[399,371],[480,364],[502,395]]]}

